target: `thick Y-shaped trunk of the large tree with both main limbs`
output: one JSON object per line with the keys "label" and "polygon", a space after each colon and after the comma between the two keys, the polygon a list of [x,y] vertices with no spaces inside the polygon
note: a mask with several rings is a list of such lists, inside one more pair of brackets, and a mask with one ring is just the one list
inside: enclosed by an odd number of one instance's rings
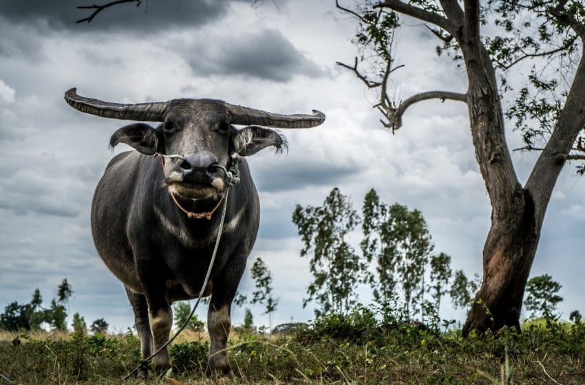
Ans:
{"label": "thick Y-shaped trunk of the large tree with both main limbs", "polygon": [[515,175],[493,63],[479,35],[477,1],[465,1],[457,36],[467,68],[467,105],[480,172],[491,203],[491,228],[483,249],[483,281],[463,326],[467,336],[502,327],[520,331],[520,309],[540,239],[546,207],[566,156],[585,124],[583,56],[555,131],[538,157],[526,187]]}

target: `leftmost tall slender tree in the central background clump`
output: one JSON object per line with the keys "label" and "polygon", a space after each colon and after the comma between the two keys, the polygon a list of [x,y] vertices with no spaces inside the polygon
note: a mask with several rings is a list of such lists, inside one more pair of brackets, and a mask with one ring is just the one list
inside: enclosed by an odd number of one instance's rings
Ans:
{"label": "leftmost tall slender tree in the central background clump", "polygon": [[292,222],[304,243],[301,256],[312,252],[309,266],[314,280],[307,289],[303,307],[315,300],[319,304],[319,309],[315,309],[317,316],[347,314],[356,302],[356,288],[365,279],[367,265],[350,246],[348,237],[359,221],[350,199],[341,195],[337,187],[331,190],[323,206],[297,205],[292,214]]}

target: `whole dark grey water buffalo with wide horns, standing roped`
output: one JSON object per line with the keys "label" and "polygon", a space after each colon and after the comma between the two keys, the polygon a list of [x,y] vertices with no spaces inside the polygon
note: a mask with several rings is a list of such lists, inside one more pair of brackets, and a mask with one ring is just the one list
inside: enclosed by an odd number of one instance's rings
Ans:
{"label": "whole dark grey water buffalo with wide horns, standing roped", "polygon": [[[78,96],[74,88],[65,100],[84,113],[139,121],[111,136],[111,146],[121,142],[136,151],[120,153],[107,165],[94,193],[92,235],[101,259],[124,284],[142,358],[169,339],[171,303],[198,296],[217,237],[221,215],[215,209],[228,186],[226,169],[242,161],[204,294],[211,294],[206,372],[230,373],[231,302],[259,223],[257,190],[242,157],[285,145],[284,137],[263,126],[308,128],[323,123],[325,115],[280,115],[211,99],[119,104]],[[168,367],[167,349],[153,362]]]}

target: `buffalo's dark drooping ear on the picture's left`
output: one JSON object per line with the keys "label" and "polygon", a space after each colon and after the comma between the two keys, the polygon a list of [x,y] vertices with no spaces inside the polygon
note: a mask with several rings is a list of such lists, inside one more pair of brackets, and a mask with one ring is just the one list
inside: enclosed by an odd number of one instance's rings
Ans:
{"label": "buffalo's dark drooping ear on the picture's left", "polygon": [[145,155],[160,152],[162,144],[160,131],[145,123],[134,123],[118,129],[109,139],[109,145],[115,147],[118,143],[125,143]]}

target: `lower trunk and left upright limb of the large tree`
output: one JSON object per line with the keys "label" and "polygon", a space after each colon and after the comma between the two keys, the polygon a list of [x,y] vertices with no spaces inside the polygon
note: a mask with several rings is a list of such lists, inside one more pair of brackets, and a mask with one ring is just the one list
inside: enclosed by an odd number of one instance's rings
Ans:
{"label": "lower trunk and left upright limb of the large tree", "polygon": [[483,249],[483,281],[463,327],[463,335],[502,327],[520,331],[524,286],[534,259],[540,223],[531,194],[515,175],[504,133],[496,72],[480,39],[479,6],[465,1],[456,39],[467,69],[471,137],[491,202],[491,228]]}

